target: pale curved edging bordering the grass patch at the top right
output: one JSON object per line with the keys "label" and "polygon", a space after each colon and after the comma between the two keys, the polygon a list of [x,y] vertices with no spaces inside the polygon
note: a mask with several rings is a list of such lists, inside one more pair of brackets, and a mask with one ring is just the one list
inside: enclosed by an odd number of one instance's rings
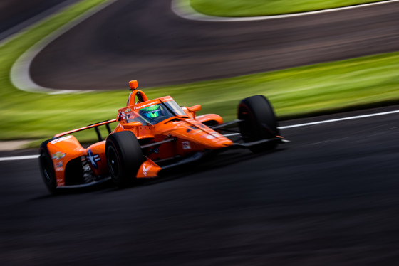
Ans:
{"label": "pale curved edging bordering the grass patch at the top right", "polygon": [[397,2],[399,0],[388,0],[388,1],[379,1],[368,4],[359,4],[356,6],[344,6],[338,7],[336,9],[323,9],[318,11],[309,11],[303,13],[295,13],[295,14],[285,14],[285,15],[274,15],[274,16],[252,16],[252,17],[240,17],[240,18],[232,18],[232,17],[221,17],[221,16],[207,16],[205,14],[198,13],[195,9],[190,5],[190,0],[172,0],[172,11],[181,18],[189,19],[192,21],[214,21],[214,22],[234,22],[234,21],[261,21],[266,19],[276,19],[276,18],[291,18],[294,16],[308,16],[313,14],[322,14],[327,12],[334,11],[342,11],[346,9],[356,9],[364,6],[375,6],[379,4],[387,4]]}

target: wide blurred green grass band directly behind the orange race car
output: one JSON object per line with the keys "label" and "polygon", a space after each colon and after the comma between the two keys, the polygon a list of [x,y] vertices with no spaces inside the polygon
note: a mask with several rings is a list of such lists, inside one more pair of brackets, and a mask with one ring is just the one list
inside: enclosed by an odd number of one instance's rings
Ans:
{"label": "wide blurred green grass band directly behind the orange race car", "polygon": [[[113,119],[118,108],[125,106],[128,80],[123,90],[73,95],[22,92],[9,80],[19,55],[101,2],[83,1],[0,47],[0,139],[48,139],[59,132]],[[398,69],[399,53],[389,53],[144,91],[150,98],[171,95],[180,105],[201,104],[202,114],[217,113],[225,121],[235,119],[239,100],[261,94],[269,97],[279,119],[287,119],[399,102]],[[91,130],[88,134],[95,137]],[[85,132],[82,137],[90,139],[88,136]]]}

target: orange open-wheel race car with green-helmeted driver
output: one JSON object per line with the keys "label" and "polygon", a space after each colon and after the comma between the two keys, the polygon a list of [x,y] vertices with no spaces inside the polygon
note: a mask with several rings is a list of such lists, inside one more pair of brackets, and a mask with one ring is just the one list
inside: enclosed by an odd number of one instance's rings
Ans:
{"label": "orange open-wheel race car with green-helmeted driver", "polygon": [[[279,136],[273,108],[266,97],[247,97],[239,103],[238,119],[223,123],[219,115],[196,115],[200,105],[180,107],[170,96],[148,100],[138,82],[129,83],[126,107],[116,119],[56,134],[40,147],[39,164],[49,191],[90,186],[113,179],[126,187],[138,179],[234,148],[254,152],[288,142]],[[135,99],[137,98],[137,102]],[[118,122],[111,132],[110,123]],[[232,129],[238,124],[238,129]],[[108,129],[102,139],[98,127]],[[74,132],[94,128],[98,142],[83,148]],[[227,132],[227,134],[221,134]],[[234,141],[232,139],[237,139]]]}

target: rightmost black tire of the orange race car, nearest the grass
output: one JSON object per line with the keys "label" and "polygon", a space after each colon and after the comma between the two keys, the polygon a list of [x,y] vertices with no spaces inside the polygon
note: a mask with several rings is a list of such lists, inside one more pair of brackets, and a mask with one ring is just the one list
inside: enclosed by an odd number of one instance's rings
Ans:
{"label": "rightmost black tire of the orange race car, nearest the grass", "polygon": [[[238,107],[239,131],[244,142],[256,142],[261,139],[271,139],[280,134],[273,107],[263,95],[247,97]],[[267,142],[249,148],[253,152],[275,149],[279,142]]]}

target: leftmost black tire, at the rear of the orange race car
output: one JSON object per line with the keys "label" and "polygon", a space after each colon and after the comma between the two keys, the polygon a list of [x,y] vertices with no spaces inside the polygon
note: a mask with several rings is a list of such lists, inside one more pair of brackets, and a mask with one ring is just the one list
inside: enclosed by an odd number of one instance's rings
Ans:
{"label": "leftmost black tire, at the rear of the orange race car", "polygon": [[47,142],[43,142],[39,149],[38,163],[40,166],[41,176],[48,191],[56,193],[57,180],[56,171],[54,171],[53,160],[47,149]]}

